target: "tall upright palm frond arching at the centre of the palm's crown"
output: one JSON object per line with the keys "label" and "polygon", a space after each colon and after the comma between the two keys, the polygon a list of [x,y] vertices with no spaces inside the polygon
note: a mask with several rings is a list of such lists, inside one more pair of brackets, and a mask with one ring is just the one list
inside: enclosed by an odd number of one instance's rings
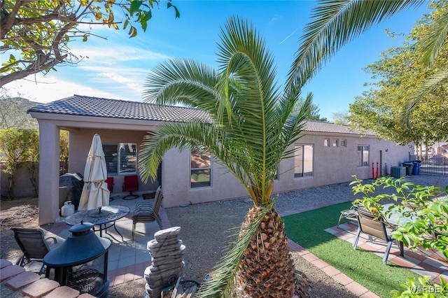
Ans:
{"label": "tall upright palm frond arching at the centre of the palm's crown", "polygon": [[268,164],[270,155],[280,149],[275,148],[281,125],[276,113],[280,93],[274,60],[253,25],[238,17],[228,20],[218,50],[220,104],[225,105],[221,110],[227,113],[221,124],[228,124],[224,129],[228,140],[235,141],[231,145],[244,148],[242,155],[234,157],[235,163],[246,166],[248,181],[262,181],[265,188],[275,172],[271,169],[275,167]]}

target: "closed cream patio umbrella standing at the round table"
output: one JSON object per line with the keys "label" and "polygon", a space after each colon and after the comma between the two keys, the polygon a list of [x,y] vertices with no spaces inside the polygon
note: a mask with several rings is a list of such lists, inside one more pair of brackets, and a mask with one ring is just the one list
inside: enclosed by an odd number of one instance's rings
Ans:
{"label": "closed cream patio umbrella standing at the round table", "polygon": [[107,179],[106,160],[99,134],[95,134],[90,146],[84,169],[84,187],[78,210],[91,210],[109,206],[110,192],[104,180]]}

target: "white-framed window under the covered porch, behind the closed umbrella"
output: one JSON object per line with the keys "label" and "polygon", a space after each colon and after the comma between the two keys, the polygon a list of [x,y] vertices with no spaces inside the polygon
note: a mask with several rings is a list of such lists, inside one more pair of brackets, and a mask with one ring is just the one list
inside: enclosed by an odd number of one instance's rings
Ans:
{"label": "white-framed window under the covered porch, behind the closed umbrella", "polygon": [[137,144],[103,144],[107,175],[127,175],[137,173]]}

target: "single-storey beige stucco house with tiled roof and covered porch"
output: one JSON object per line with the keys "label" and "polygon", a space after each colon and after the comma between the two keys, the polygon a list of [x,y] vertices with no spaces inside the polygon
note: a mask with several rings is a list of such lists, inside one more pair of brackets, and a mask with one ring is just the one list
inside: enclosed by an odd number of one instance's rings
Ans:
{"label": "single-storey beige stucco house with tiled roof and covered porch", "polygon": [[[125,176],[139,176],[138,152],[147,132],[165,121],[208,119],[206,113],[193,108],[80,95],[35,106],[28,113],[40,130],[40,225],[55,222],[59,216],[59,130],[69,131],[71,173],[83,173],[92,137],[101,136],[108,173],[114,178],[113,192],[120,193]],[[295,157],[279,166],[274,192],[342,183],[352,180],[351,175],[372,178],[372,163],[376,166],[377,162],[384,175],[414,152],[409,146],[378,140],[370,132],[361,136],[344,125],[311,121],[295,146]],[[158,184],[164,191],[165,207],[247,196],[237,179],[209,155],[190,150],[169,151],[158,181],[139,179],[139,192],[155,190]]]}

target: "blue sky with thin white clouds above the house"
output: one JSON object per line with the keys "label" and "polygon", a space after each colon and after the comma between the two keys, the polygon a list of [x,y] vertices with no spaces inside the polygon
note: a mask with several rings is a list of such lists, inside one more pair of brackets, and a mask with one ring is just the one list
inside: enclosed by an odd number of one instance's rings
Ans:
{"label": "blue sky with thin white clouds above the house", "polygon": [[[139,30],[136,38],[128,38],[127,31],[94,27],[94,34],[107,39],[92,36],[87,43],[71,43],[73,52],[85,57],[76,66],[59,66],[57,72],[29,76],[4,87],[11,95],[20,93],[43,103],[73,94],[141,101],[146,76],[166,59],[195,59],[216,66],[216,42],[231,15],[251,20],[260,31],[274,55],[279,83],[283,83],[299,48],[304,24],[315,6],[314,1],[275,0],[173,3],[181,11],[179,19],[174,19],[174,10],[167,10],[166,1],[162,0],[160,8],[153,10],[147,31]],[[321,117],[332,120],[333,112],[348,110],[354,97],[367,90],[364,83],[372,81],[363,68],[379,59],[381,51],[402,44],[404,37],[393,40],[384,29],[407,35],[423,13],[428,13],[426,5],[405,10],[332,57],[302,90],[303,95],[314,93]]]}

